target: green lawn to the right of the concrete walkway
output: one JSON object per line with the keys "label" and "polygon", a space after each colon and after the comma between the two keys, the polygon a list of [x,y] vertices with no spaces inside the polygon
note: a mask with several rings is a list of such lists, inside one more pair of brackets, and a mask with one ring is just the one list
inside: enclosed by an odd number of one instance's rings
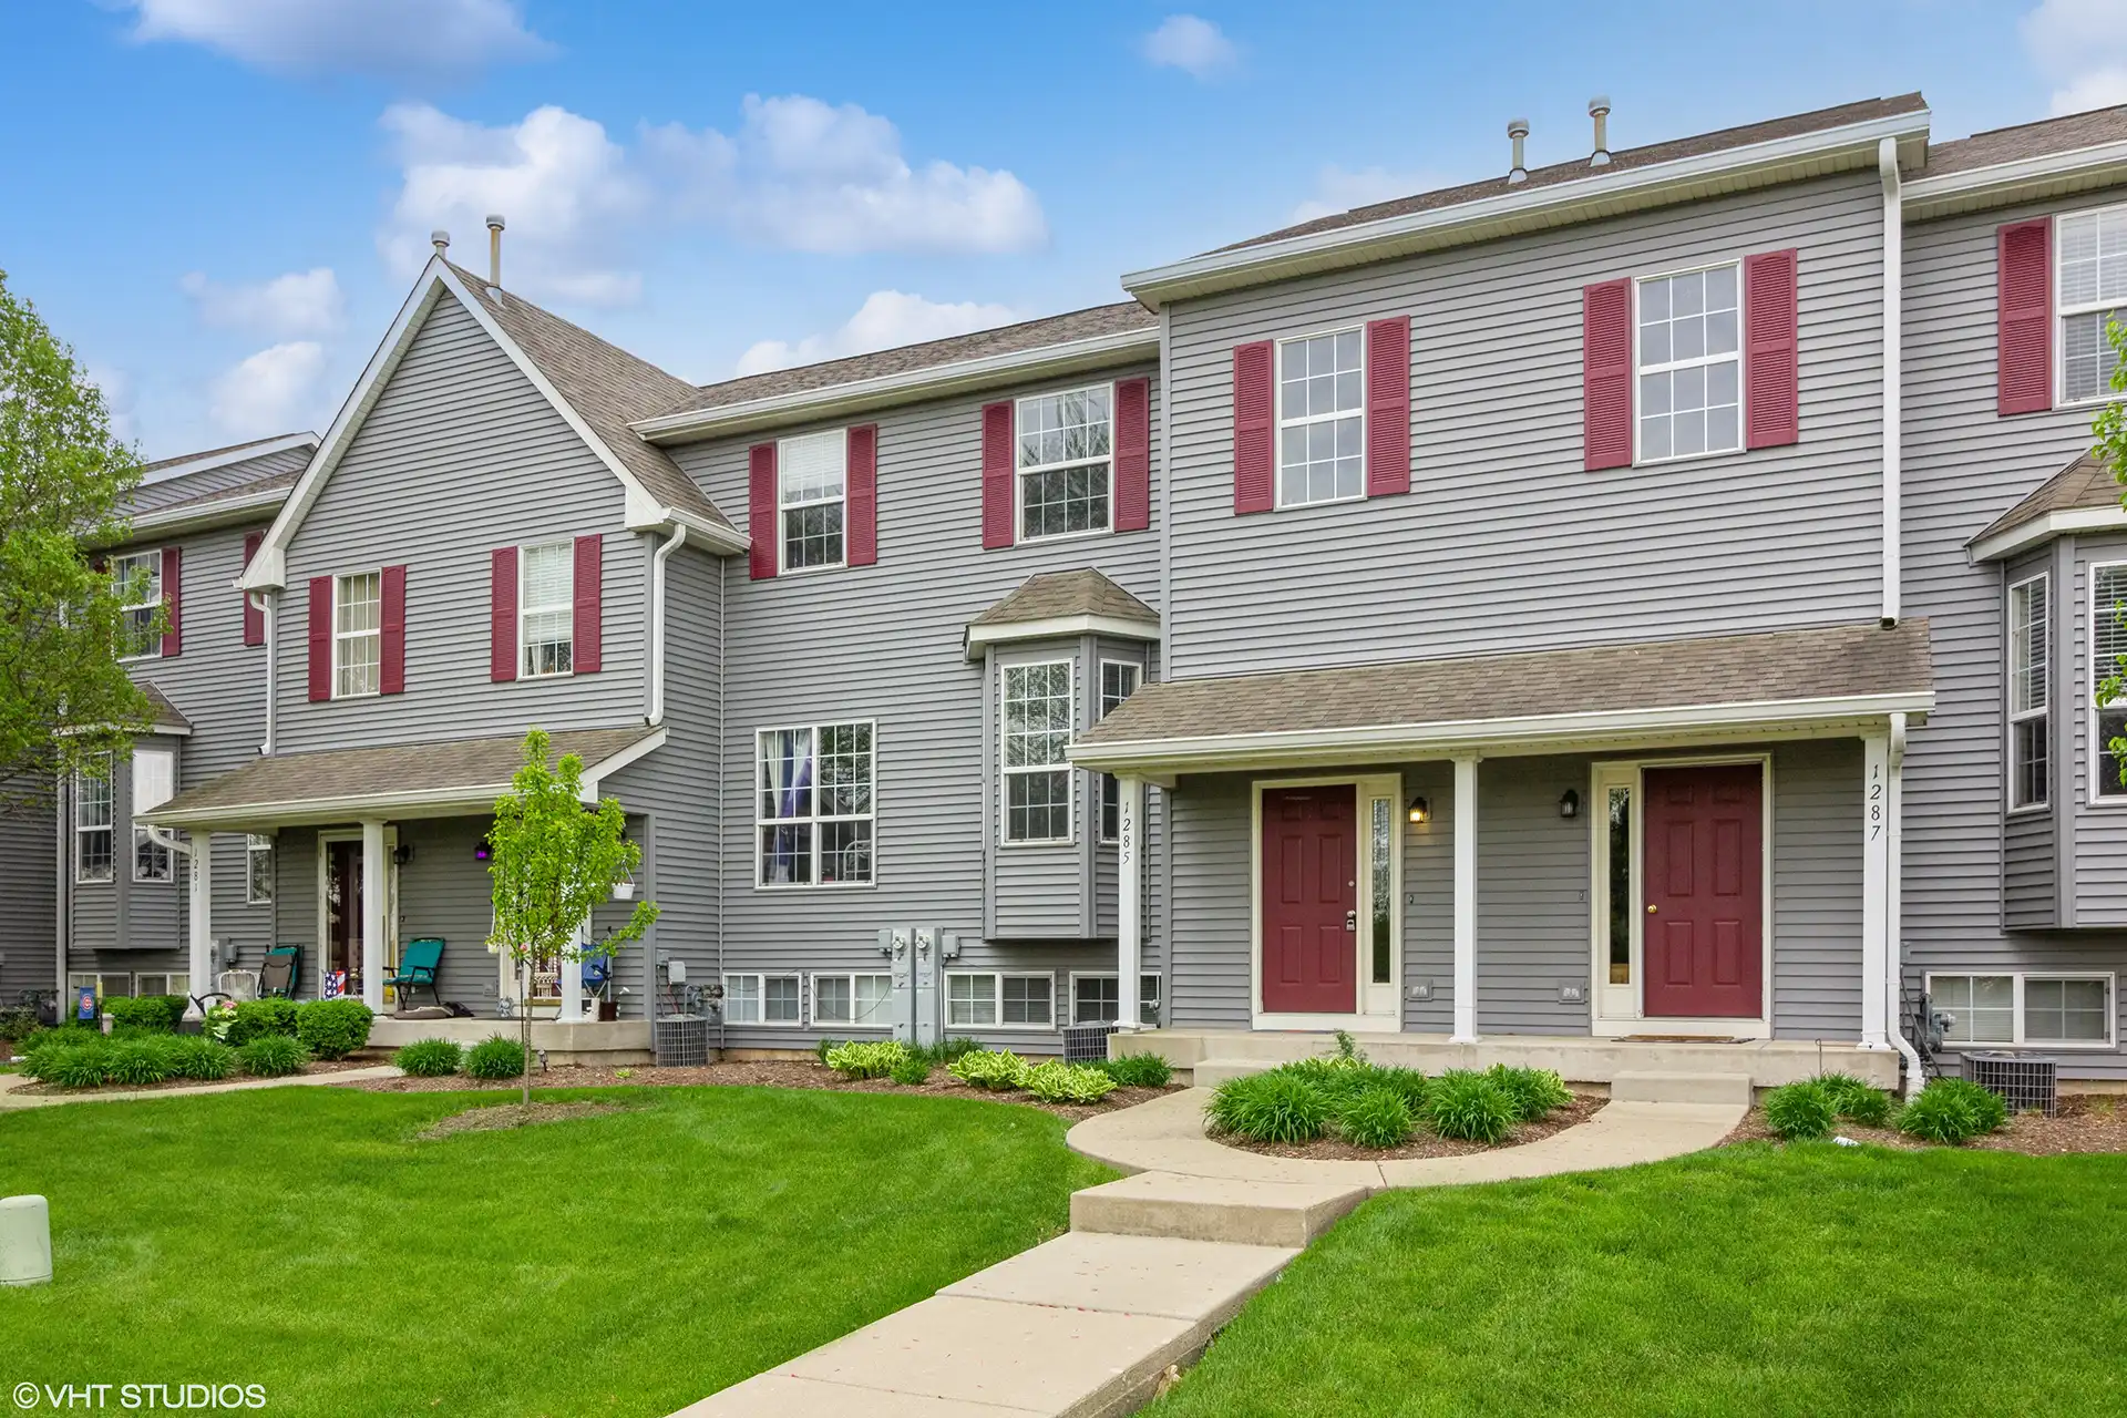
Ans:
{"label": "green lawn to the right of the concrete walkway", "polygon": [[1338,1225],[1157,1418],[2127,1412],[2127,1157],[1702,1152]]}

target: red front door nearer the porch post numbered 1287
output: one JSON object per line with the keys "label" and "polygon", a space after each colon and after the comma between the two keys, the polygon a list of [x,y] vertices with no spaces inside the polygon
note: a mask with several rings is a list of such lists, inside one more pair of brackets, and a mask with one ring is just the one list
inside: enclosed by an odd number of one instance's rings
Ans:
{"label": "red front door nearer the porch post numbered 1287", "polygon": [[1765,780],[1757,763],[1648,767],[1646,1014],[1757,1018],[1765,997]]}

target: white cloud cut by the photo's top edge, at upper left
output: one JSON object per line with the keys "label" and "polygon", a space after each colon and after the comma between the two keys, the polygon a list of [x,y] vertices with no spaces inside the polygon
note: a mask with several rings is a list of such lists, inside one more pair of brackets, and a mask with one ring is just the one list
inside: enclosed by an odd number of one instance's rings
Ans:
{"label": "white cloud cut by the photo's top edge, at upper left", "polygon": [[515,0],[125,0],[138,40],[185,40],[257,68],[404,79],[449,74],[553,47]]}

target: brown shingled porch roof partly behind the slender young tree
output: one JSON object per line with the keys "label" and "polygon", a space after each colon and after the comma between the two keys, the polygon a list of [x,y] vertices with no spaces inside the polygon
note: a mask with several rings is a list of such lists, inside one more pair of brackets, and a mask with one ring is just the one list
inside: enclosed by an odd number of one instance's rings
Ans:
{"label": "brown shingled porch roof partly behind the slender young tree", "polygon": [[[585,793],[664,742],[664,729],[564,729],[553,757],[583,759]],[[523,736],[379,748],[277,753],[185,789],[140,821],[155,827],[257,831],[359,818],[489,812],[523,763]]]}

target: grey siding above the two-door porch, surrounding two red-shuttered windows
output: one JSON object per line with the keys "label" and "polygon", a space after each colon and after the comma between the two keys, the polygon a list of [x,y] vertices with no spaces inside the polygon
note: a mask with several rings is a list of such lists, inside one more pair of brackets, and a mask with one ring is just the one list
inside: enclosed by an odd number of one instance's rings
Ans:
{"label": "grey siding above the two-door porch, surrounding two red-shuttered windows", "polygon": [[[1582,472],[1582,285],[1785,247],[1802,442]],[[1880,272],[1868,174],[1172,306],[1168,674],[1874,619]],[[1410,493],[1234,517],[1234,344],[1385,315],[1412,319]]]}

